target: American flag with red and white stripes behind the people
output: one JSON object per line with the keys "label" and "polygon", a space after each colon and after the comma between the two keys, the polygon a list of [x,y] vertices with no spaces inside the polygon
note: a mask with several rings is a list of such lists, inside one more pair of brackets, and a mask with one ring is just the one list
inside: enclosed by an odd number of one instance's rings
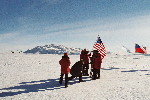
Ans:
{"label": "American flag with red and white stripes behind the people", "polygon": [[106,56],[106,50],[105,50],[105,46],[102,43],[100,37],[98,37],[96,43],[93,46],[96,50],[99,51],[99,53],[101,54],[101,59],[104,58],[104,56]]}

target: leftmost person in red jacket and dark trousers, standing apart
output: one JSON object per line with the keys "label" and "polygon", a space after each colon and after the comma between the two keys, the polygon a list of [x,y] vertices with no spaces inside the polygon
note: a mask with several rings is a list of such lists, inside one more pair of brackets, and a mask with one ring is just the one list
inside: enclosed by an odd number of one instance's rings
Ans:
{"label": "leftmost person in red jacket and dark trousers, standing apart", "polygon": [[62,59],[59,61],[59,64],[61,65],[61,75],[59,83],[62,84],[63,76],[65,74],[65,87],[68,87],[68,74],[70,72],[70,59],[68,57],[67,53],[64,53],[64,56],[62,56]]}

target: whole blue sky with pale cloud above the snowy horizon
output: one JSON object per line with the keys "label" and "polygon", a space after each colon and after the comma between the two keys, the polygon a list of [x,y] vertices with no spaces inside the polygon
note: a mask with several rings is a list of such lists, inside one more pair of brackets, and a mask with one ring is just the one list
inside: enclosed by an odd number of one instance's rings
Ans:
{"label": "whole blue sky with pale cloud above the snowy horizon", "polygon": [[47,44],[150,48],[150,0],[1,0],[0,52]]}

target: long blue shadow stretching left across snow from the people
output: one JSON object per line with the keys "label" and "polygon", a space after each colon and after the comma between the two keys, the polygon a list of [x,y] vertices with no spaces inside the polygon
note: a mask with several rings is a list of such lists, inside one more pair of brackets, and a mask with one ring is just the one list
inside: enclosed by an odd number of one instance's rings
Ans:
{"label": "long blue shadow stretching left across snow from the people", "polygon": [[[89,77],[83,77],[84,82],[91,81],[88,78]],[[75,78],[72,81],[69,81],[68,85],[79,83],[78,78]],[[22,82],[22,83],[19,83],[19,85],[16,85],[13,87],[0,89],[3,91],[7,91],[7,92],[1,92],[0,97],[14,96],[14,95],[22,94],[22,93],[61,89],[61,88],[65,88],[63,84],[62,85],[59,84],[59,78],[31,81],[31,82]]]}

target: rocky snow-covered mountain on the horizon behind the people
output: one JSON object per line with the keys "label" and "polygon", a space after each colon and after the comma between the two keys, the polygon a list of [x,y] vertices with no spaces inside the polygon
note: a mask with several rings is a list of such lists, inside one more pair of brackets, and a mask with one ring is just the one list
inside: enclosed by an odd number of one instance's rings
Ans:
{"label": "rocky snow-covered mountain on the horizon behind the people", "polygon": [[64,54],[68,53],[70,55],[78,55],[81,53],[81,48],[68,48],[63,45],[45,45],[45,46],[37,46],[31,50],[27,50],[24,53],[39,53],[39,54]]}

